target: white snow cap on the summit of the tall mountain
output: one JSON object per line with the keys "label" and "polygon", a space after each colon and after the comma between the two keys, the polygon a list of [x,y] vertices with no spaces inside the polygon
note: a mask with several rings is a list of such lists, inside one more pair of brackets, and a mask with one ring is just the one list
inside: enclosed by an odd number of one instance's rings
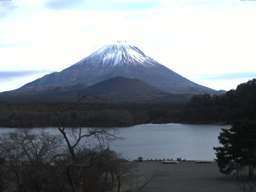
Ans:
{"label": "white snow cap on the summit of the tall mountain", "polygon": [[84,68],[85,65],[104,67],[130,64],[160,65],[128,41],[118,40],[114,44],[103,46],[73,66]]}

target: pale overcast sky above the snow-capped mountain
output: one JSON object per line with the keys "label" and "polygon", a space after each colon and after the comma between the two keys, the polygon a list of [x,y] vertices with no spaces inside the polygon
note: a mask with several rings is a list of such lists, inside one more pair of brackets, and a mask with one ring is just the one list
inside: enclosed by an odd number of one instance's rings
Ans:
{"label": "pale overcast sky above the snow-capped mountain", "polygon": [[256,0],[0,0],[0,92],[128,40],[216,90],[256,78]]}

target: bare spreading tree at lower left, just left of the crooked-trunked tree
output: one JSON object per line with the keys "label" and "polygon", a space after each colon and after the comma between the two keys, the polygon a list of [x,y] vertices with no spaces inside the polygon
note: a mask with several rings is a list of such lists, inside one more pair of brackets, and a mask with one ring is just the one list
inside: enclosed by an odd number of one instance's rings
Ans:
{"label": "bare spreading tree at lower left, just left of the crooked-trunked tree", "polygon": [[49,166],[63,156],[62,139],[44,130],[35,134],[30,129],[19,129],[14,136],[12,139],[25,153],[26,162],[23,161],[23,165],[26,167],[24,173],[30,181],[28,187],[40,191],[51,178]]}

